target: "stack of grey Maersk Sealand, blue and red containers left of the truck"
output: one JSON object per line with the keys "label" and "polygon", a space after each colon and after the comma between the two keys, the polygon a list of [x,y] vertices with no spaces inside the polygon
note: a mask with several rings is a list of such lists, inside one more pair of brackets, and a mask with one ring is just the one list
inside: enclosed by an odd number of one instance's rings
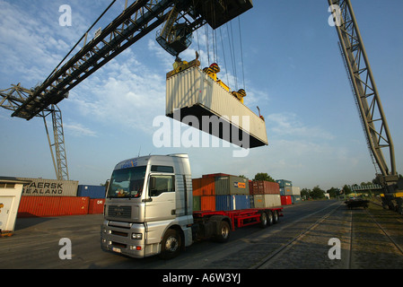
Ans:
{"label": "stack of grey Maersk Sealand, blue and red containers left of the truck", "polygon": [[17,217],[48,217],[103,213],[105,187],[79,186],[74,180],[20,178],[22,188]]}

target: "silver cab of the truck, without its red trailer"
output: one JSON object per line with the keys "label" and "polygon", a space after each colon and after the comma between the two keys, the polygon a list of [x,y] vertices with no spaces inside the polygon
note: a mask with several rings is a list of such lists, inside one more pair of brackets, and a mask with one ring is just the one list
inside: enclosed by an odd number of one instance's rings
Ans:
{"label": "silver cab of the truck, without its red trailer", "polygon": [[110,178],[101,247],[130,257],[174,257],[192,243],[192,207],[187,154],[121,161]]}

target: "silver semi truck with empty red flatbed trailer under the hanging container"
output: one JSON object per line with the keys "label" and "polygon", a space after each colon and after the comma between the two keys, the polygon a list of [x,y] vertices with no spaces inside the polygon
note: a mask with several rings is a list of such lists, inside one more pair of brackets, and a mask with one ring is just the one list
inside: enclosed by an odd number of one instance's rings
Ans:
{"label": "silver semi truck with empty red flatbed trailer under the hanging container", "polygon": [[238,228],[266,228],[283,208],[193,211],[188,154],[149,155],[119,162],[104,206],[101,248],[135,258],[177,257],[199,239],[226,242]]}

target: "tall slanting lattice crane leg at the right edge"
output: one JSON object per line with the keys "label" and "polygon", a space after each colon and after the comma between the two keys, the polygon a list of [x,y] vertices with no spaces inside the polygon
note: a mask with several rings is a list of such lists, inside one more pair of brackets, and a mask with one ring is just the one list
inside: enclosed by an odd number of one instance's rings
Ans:
{"label": "tall slanting lattice crane leg at the right edge", "polygon": [[[377,179],[385,189],[383,204],[402,213],[403,197],[398,192],[402,184],[396,170],[394,145],[352,4],[350,0],[328,1]],[[390,165],[383,151],[389,153]]]}

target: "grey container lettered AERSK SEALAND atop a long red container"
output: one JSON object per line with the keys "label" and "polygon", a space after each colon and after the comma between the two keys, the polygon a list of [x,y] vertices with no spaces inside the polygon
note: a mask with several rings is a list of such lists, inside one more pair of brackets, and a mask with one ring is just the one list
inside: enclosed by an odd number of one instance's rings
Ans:
{"label": "grey container lettered AERSK SEALAND atop a long red container", "polygon": [[22,187],[22,196],[77,196],[78,181],[46,178],[18,178],[31,180]]}

